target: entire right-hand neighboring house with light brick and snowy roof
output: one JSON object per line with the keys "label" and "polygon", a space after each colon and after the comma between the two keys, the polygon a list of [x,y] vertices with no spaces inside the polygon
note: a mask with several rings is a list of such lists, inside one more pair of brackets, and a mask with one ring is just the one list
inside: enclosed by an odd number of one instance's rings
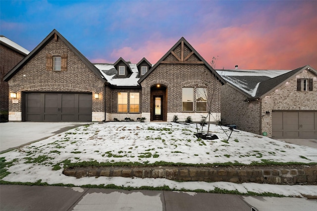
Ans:
{"label": "entire right-hand neighboring house with light brick and snowy roof", "polygon": [[317,138],[317,71],[217,70],[223,124],[273,138]]}

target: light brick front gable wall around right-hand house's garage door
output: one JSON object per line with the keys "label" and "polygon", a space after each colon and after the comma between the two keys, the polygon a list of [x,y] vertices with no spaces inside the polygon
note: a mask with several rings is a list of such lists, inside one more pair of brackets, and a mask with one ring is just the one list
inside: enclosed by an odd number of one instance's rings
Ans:
{"label": "light brick front gable wall around right-hand house's garage door", "polygon": [[[297,79],[313,79],[313,91],[297,91]],[[272,110],[317,111],[317,76],[304,70],[262,99],[262,131],[267,136],[272,136]]]}

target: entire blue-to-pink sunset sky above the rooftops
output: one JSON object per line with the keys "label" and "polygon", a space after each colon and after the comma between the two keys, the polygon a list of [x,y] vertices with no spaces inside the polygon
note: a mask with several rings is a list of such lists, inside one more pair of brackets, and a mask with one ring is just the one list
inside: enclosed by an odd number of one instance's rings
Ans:
{"label": "entire blue-to-pink sunset sky above the rooftops", "polygon": [[0,1],[0,34],[32,51],[56,29],[93,63],[156,63],[181,37],[216,69],[317,69],[317,1]]}

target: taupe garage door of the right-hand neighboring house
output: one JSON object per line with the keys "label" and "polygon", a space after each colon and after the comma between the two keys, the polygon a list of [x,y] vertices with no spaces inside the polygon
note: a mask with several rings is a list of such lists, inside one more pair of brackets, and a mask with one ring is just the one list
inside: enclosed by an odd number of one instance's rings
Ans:
{"label": "taupe garage door of the right-hand neighboring house", "polygon": [[273,111],[272,137],[317,138],[317,111]]}

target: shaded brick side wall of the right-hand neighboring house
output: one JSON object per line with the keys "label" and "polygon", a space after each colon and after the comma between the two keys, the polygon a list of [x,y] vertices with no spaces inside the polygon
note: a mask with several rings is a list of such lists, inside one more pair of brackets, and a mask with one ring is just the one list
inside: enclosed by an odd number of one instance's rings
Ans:
{"label": "shaded brick side wall of the right-hand neighboring house", "polygon": [[221,88],[221,122],[237,129],[260,134],[259,101],[244,102],[247,96],[225,84]]}

